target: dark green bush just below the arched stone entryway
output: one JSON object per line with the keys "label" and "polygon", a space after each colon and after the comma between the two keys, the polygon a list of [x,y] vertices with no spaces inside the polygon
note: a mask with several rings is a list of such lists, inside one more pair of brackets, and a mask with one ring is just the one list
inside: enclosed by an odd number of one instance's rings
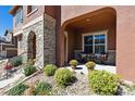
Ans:
{"label": "dark green bush just below the arched stone entryway", "polygon": [[37,71],[36,66],[26,64],[23,72],[25,76],[29,76]]}

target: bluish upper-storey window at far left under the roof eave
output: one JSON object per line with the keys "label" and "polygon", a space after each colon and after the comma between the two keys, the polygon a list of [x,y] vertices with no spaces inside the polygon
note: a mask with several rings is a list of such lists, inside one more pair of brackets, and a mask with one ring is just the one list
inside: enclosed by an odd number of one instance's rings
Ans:
{"label": "bluish upper-storey window at far left under the roof eave", "polygon": [[21,7],[15,13],[15,26],[19,23],[23,23],[23,7]]}

